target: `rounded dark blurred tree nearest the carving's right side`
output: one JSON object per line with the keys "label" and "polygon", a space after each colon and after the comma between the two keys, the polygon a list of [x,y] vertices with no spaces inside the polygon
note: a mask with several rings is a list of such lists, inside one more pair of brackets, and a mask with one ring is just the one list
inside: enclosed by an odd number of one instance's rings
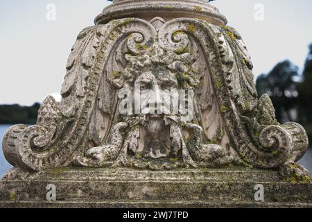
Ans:
{"label": "rounded dark blurred tree nearest the carving's right side", "polygon": [[298,67],[290,61],[279,62],[269,74],[257,78],[259,96],[268,94],[275,105],[279,122],[297,120],[297,82]]}

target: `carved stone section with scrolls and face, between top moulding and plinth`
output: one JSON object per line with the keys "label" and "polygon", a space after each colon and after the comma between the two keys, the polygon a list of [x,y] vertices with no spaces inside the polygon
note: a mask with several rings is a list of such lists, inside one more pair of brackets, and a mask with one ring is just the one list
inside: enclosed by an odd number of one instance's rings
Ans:
{"label": "carved stone section with scrolls and face, between top moulding and plinth", "polygon": [[[35,126],[3,138],[6,159],[32,171],[58,167],[176,169],[229,164],[280,169],[310,180],[296,164],[308,139],[279,124],[258,99],[241,35],[202,19],[115,19],[85,28],[67,63],[60,104],[48,96]],[[141,87],[193,90],[193,119],[122,114],[119,92]]]}

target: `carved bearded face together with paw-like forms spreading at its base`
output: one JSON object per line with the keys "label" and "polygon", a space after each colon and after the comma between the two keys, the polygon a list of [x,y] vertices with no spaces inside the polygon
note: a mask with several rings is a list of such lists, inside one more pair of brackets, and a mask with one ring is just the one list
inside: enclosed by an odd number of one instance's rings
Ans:
{"label": "carved bearded face together with paw-like forms spreading at its base", "polygon": [[157,39],[140,46],[133,44],[139,35],[128,36],[123,48],[125,69],[111,72],[118,94],[112,128],[127,126],[125,133],[113,131],[120,134],[118,145],[91,148],[80,164],[173,169],[232,162],[225,148],[208,143],[200,125],[196,90],[202,77],[193,69],[196,58],[191,56],[195,53],[191,48],[197,48],[185,33],[173,36],[180,49],[166,49]]}

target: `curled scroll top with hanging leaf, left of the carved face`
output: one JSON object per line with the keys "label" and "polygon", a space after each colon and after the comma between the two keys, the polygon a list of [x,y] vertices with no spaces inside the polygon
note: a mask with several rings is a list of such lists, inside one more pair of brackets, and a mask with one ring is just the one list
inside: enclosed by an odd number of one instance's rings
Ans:
{"label": "curled scroll top with hanging leaf, left of the carved face", "polygon": [[[132,19],[127,19],[130,21]],[[98,87],[96,104],[89,123],[89,143],[85,149],[94,146],[99,146],[108,139],[112,129],[112,121],[116,114],[117,95],[116,89],[120,89],[124,84],[125,76],[128,73],[125,70],[127,60],[125,56],[128,53],[132,55],[144,54],[146,49],[153,44],[155,30],[151,24],[140,24],[139,21],[133,20],[133,23],[128,24],[129,31],[114,44],[110,56],[103,69],[103,76]],[[136,24],[138,23],[138,24]],[[135,27],[137,26],[137,30]],[[112,33],[110,38],[114,39],[117,36]]]}

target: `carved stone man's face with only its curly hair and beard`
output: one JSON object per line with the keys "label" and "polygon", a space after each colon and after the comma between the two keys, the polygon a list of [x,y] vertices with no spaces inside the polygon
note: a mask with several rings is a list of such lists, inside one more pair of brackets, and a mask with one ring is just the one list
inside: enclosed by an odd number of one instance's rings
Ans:
{"label": "carved stone man's face with only its curly hair and beard", "polygon": [[[160,56],[163,55],[164,50],[160,49],[158,44],[154,44],[144,56],[125,56],[132,75],[129,75],[128,79],[121,76],[117,80],[119,83],[121,80],[125,81],[119,90],[119,113],[123,114],[121,118],[124,121],[141,119],[137,122],[137,130],[140,132],[139,144],[137,148],[131,149],[135,156],[152,159],[175,157],[171,151],[171,124],[168,121],[180,121],[179,112],[182,109],[178,100],[182,100],[179,90],[183,87],[179,84],[178,75],[174,70],[171,71],[166,63],[160,62]],[[124,95],[130,96],[131,99],[125,98],[128,102],[124,102]],[[193,99],[188,101],[193,102]],[[190,103],[189,106],[193,107],[193,104]]]}

